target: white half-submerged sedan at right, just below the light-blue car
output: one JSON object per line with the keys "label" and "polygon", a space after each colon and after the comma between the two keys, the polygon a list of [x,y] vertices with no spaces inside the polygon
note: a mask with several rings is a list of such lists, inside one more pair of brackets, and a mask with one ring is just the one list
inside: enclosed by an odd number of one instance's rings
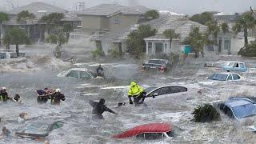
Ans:
{"label": "white half-submerged sedan at right, just below the light-blue car", "polygon": [[206,82],[199,82],[203,85],[211,85],[218,82],[236,82],[240,81],[242,77],[236,73],[215,73],[207,78]]}

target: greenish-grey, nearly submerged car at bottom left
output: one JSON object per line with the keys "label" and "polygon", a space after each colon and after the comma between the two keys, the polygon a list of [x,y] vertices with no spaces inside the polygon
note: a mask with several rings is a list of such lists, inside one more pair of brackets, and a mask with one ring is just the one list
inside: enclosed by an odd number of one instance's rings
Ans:
{"label": "greenish-grey, nearly submerged car at bottom left", "polygon": [[31,122],[15,134],[22,138],[45,138],[52,130],[58,129],[64,125],[64,122],[57,121],[53,123]]}

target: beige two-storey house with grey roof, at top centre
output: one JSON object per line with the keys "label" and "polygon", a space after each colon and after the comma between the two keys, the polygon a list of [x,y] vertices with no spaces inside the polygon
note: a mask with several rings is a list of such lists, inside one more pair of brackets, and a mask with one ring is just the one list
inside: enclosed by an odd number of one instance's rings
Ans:
{"label": "beige two-storey house with grey roof, at top centre", "polygon": [[101,4],[78,12],[82,20],[82,29],[119,31],[138,23],[149,10],[145,6],[120,6]]}

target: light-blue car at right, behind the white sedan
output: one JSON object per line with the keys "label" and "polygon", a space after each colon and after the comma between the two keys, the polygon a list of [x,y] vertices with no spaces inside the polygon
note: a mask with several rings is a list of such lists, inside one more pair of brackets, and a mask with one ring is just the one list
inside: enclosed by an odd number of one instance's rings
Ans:
{"label": "light-blue car at right, behind the white sedan", "polygon": [[248,70],[248,67],[245,62],[227,62],[225,65],[222,65],[222,70],[245,72]]}

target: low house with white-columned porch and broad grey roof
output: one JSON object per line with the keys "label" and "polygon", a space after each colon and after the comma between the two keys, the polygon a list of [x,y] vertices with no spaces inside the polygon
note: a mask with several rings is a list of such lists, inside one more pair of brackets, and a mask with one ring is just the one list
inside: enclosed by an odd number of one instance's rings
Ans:
{"label": "low house with white-columned porch and broad grey roof", "polygon": [[[146,54],[170,54],[180,53],[183,49],[181,45],[182,40],[188,36],[191,27],[199,27],[201,32],[207,30],[207,26],[201,25],[198,22],[192,22],[180,15],[162,14],[160,18],[151,20],[149,22],[143,22],[142,24],[149,24],[153,28],[158,30],[158,33],[152,37],[144,38],[146,42]],[[95,46],[98,49],[102,49],[105,54],[109,54],[109,50],[114,47],[118,47],[119,52],[125,52],[126,40],[130,32],[138,30],[138,24],[126,27],[126,29],[119,30],[118,32],[108,32],[106,34],[98,35],[91,40],[95,42]],[[173,39],[170,46],[170,39],[163,35],[164,30],[172,29],[181,37]]]}

